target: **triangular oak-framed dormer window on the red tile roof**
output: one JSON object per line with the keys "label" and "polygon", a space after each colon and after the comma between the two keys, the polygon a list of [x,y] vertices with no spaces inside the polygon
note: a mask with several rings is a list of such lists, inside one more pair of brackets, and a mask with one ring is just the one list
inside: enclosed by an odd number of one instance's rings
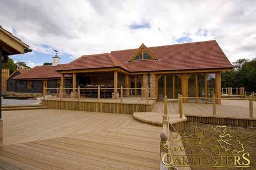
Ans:
{"label": "triangular oak-framed dormer window on the red tile roof", "polygon": [[158,59],[144,44],[136,50],[136,52],[128,59],[128,61],[140,61],[147,59]]}

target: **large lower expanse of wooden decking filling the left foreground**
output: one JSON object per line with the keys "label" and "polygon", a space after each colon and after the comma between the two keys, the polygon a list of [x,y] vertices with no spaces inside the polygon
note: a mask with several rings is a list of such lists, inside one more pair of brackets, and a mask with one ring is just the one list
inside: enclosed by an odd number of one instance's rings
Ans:
{"label": "large lower expanse of wooden decking filling the left foreground", "polygon": [[161,127],[131,114],[3,112],[3,169],[159,169]]}

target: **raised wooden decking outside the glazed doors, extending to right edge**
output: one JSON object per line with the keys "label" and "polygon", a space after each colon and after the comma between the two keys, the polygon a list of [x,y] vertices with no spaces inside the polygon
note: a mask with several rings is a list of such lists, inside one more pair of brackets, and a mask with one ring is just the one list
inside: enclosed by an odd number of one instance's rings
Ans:
{"label": "raised wooden decking outside the glazed doors, extending to right edge", "polygon": [[[256,126],[256,102],[253,102],[253,117],[249,117],[248,100],[222,100],[216,105],[216,115],[213,116],[213,104],[183,103],[183,114],[187,121],[211,123],[218,125]],[[152,112],[164,112],[164,103],[154,105]],[[178,103],[168,103],[168,113],[178,113]]]}

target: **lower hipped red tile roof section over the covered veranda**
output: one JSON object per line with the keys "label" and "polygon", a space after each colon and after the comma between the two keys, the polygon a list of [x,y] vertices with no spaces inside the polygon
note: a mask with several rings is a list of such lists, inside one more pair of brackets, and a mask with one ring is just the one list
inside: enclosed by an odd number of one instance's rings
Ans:
{"label": "lower hipped red tile roof section over the covered veranda", "polygon": [[125,70],[125,66],[120,63],[110,53],[104,54],[93,54],[88,56],[82,56],[75,59],[68,65],[60,68],[59,70],[79,70],[79,69],[90,69],[90,68],[106,68],[106,67],[122,67]]}

